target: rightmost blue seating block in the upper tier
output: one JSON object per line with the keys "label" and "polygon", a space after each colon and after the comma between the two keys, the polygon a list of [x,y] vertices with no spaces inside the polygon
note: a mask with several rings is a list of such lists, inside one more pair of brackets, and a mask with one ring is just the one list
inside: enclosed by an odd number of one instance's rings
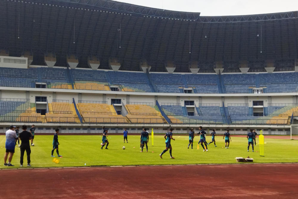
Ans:
{"label": "rightmost blue seating block in the upper tier", "polygon": [[298,92],[298,72],[261,73],[260,87],[267,92]]}

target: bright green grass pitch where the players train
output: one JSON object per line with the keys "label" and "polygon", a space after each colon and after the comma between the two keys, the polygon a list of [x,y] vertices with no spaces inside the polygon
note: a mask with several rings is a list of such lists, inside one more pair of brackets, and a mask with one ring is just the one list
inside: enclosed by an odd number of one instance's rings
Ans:
{"label": "bright green grass pitch where the players train", "polygon": [[[209,164],[209,163],[236,163],[235,157],[247,156],[254,158],[255,163],[277,163],[277,162],[298,162],[298,140],[286,139],[266,139],[265,135],[265,157],[260,157],[259,145],[255,146],[252,152],[247,152],[247,139],[241,137],[233,137],[230,148],[225,149],[222,136],[216,136],[216,145],[211,143],[208,146],[209,151],[203,152],[197,149],[199,137],[194,140],[194,149],[187,149],[188,135],[174,135],[176,141],[171,141],[173,152],[172,155],[176,159],[170,159],[169,152],[163,155],[163,159],[159,154],[165,149],[164,138],[162,135],[154,136],[154,146],[151,146],[151,137],[149,136],[149,149],[140,152],[140,136],[128,135],[128,142],[123,143],[122,135],[108,136],[110,142],[109,149],[100,149],[100,135],[59,135],[59,153],[63,155],[60,163],[52,162],[51,150],[53,135],[37,135],[34,139],[35,146],[31,147],[31,164],[32,167],[66,167],[66,166],[117,166],[117,165],[161,165],[161,164]],[[278,137],[277,137],[278,138]],[[211,140],[211,136],[206,137],[207,142]],[[257,139],[258,143],[258,139]],[[5,154],[5,136],[0,136],[0,154],[2,158]],[[126,149],[123,150],[122,146]],[[223,148],[222,148],[223,147]],[[258,151],[258,152],[256,152]],[[56,151],[54,155],[57,157]],[[12,164],[14,167],[3,166],[3,168],[19,168],[20,149],[15,148]],[[24,155],[24,165],[26,167],[27,155]]]}

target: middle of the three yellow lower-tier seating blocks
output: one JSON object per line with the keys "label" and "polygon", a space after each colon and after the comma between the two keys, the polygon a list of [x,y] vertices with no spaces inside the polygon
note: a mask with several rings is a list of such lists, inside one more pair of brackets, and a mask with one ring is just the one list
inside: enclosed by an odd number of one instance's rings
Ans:
{"label": "middle of the three yellow lower-tier seating blocks", "polygon": [[78,103],[80,113],[86,123],[128,123],[128,119],[117,115],[113,105]]}

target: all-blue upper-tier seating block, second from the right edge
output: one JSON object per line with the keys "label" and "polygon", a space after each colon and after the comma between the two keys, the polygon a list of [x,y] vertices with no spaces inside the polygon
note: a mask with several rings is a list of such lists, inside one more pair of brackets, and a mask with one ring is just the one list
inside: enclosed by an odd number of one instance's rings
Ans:
{"label": "all-blue upper-tier seating block, second from the right edge", "polygon": [[224,74],[227,93],[248,93],[248,87],[255,87],[255,74]]}

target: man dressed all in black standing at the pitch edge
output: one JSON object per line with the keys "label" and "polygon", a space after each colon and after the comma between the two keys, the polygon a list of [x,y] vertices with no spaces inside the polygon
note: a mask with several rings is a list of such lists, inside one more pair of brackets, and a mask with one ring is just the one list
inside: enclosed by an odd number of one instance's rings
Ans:
{"label": "man dressed all in black standing at the pitch edge", "polygon": [[20,157],[20,166],[23,166],[24,152],[26,150],[27,153],[27,166],[31,166],[30,164],[30,140],[31,133],[27,131],[27,125],[22,126],[23,131],[20,133],[19,138],[21,139],[21,157]]}

